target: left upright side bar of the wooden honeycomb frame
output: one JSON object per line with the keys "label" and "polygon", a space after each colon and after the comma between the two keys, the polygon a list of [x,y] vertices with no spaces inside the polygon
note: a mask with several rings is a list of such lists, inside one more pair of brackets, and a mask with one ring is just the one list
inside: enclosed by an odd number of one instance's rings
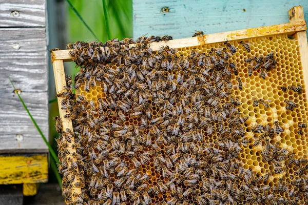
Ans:
{"label": "left upright side bar of the wooden honeycomb frame", "polygon": [[[55,88],[56,88],[56,93],[59,94],[66,86],[65,82],[65,72],[64,72],[64,65],[63,65],[63,60],[54,60],[52,62],[53,66],[53,75],[54,75],[54,81],[55,81]],[[61,101],[64,99],[64,97],[58,97],[58,106],[61,108]],[[65,110],[59,109],[60,117],[62,120],[62,126],[63,130],[66,130],[67,128],[73,130],[72,126],[72,120],[70,118],[64,118],[63,116],[67,114]],[[74,161],[77,161],[76,157],[72,156],[71,153],[76,152],[75,148],[72,148],[72,145],[74,144],[74,140],[71,140],[71,142],[68,142],[68,150],[70,151],[70,154],[66,154],[66,158],[72,158]],[[67,160],[69,163],[69,160]],[[78,168],[76,168],[76,171],[78,172]],[[76,181],[80,181],[79,176],[76,177]],[[81,193],[81,188],[75,186],[75,181],[71,183],[71,191],[72,193],[75,194],[80,194]],[[75,196],[72,196],[73,201],[76,200]]]}

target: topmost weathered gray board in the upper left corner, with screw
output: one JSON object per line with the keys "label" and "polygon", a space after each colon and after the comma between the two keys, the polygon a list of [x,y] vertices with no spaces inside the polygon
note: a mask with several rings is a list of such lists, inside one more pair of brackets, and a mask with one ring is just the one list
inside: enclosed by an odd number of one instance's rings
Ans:
{"label": "topmost weathered gray board in the upper left corner, with screw", "polygon": [[0,27],[45,27],[45,0],[0,0]]}

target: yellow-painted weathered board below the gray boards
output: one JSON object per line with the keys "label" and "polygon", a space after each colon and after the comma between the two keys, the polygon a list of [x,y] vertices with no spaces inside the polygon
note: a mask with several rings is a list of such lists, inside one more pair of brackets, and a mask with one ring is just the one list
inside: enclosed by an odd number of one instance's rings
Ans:
{"label": "yellow-painted weathered board below the gray boards", "polygon": [[0,155],[1,185],[47,181],[47,154]]}

